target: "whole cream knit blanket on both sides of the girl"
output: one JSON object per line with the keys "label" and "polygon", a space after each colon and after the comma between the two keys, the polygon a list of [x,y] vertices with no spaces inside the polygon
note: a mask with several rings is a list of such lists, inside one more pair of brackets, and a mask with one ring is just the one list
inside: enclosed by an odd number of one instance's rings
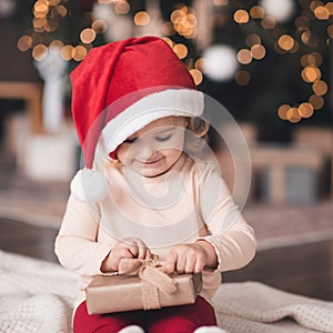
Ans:
{"label": "whole cream knit blanket on both sides of the girl", "polygon": [[[0,251],[0,332],[71,332],[75,284],[77,275],[59,264]],[[224,283],[213,302],[230,333],[333,333],[333,302],[262,283]]]}

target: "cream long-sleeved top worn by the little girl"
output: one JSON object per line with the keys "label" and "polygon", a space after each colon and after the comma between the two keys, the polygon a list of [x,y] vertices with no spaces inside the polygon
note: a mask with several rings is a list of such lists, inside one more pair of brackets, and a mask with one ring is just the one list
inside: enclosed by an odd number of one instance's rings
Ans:
{"label": "cream long-sleeved top worn by the little girl", "polygon": [[244,221],[211,162],[185,155],[161,176],[124,172],[105,163],[109,198],[87,204],[70,196],[56,241],[56,253],[80,274],[80,303],[91,276],[102,274],[104,258],[119,239],[139,238],[163,260],[176,243],[210,242],[219,266],[203,272],[201,295],[208,301],[221,284],[221,272],[248,264],[255,252],[252,228]]}

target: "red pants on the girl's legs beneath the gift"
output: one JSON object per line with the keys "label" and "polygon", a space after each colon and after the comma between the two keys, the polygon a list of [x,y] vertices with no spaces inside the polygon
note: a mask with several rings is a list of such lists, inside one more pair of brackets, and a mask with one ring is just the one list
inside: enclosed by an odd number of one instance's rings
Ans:
{"label": "red pants on the girl's legs beneath the gift", "polygon": [[201,296],[190,305],[92,315],[83,302],[77,309],[73,332],[113,333],[129,325],[139,325],[149,333],[186,333],[200,326],[216,325],[216,319],[211,304]]}

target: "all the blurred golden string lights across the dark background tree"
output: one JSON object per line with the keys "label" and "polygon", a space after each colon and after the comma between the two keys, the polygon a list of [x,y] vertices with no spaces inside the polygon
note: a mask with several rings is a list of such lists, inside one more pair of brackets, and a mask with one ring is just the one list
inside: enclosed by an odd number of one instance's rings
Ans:
{"label": "all the blurred golden string lights across the dark background tree", "polygon": [[[130,0],[97,0],[95,2],[112,7],[115,16],[131,17],[133,27],[147,27],[151,23],[150,12],[147,9],[138,9],[138,6]],[[36,61],[42,60],[52,50],[53,52],[58,50],[57,52],[65,61],[82,61],[97,43],[99,36],[105,34],[108,22],[88,12],[85,19],[89,18],[89,22],[79,31],[77,42],[69,42],[64,40],[65,36],[57,32],[64,19],[71,19],[69,18],[70,3],[70,0],[36,0],[32,6],[31,29],[18,40],[18,49],[22,52],[31,51]],[[193,48],[191,51],[189,47],[195,46],[198,37],[198,16],[189,3],[191,1],[186,3],[179,1],[174,4],[169,17],[164,17],[164,21],[161,22],[160,34],[172,47],[175,54],[184,61],[195,84],[201,84],[203,80],[211,78],[204,71],[203,52],[193,54]],[[246,4],[248,7],[240,1],[231,0],[213,0],[212,3],[215,24],[232,22],[246,32],[243,46],[238,46],[234,52],[234,60],[240,68],[235,67],[231,79],[236,84],[246,87],[251,83],[251,65],[265,61],[271,49],[285,57],[294,54],[299,57],[302,65],[299,79],[304,84],[309,84],[311,92],[307,97],[300,98],[302,100],[293,105],[290,105],[287,101],[283,102],[278,109],[279,118],[296,123],[302,119],[311,118],[315,111],[324,107],[329,84],[323,77],[323,56],[319,51],[323,37],[319,36],[319,30],[314,29],[314,26],[323,27],[321,30],[324,31],[327,47],[333,39],[333,1],[324,3],[323,1],[299,0],[301,10],[297,14],[294,13],[295,3],[292,3],[292,0],[259,0],[253,6]],[[283,6],[285,6],[284,9]],[[226,8],[233,9],[228,19]],[[291,18],[291,10],[295,17],[294,29],[284,26]],[[61,36],[61,38],[56,36]],[[304,51],[306,48],[309,51]],[[252,74],[255,75],[255,73]],[[223,80],[220,77],[220,81]]]}

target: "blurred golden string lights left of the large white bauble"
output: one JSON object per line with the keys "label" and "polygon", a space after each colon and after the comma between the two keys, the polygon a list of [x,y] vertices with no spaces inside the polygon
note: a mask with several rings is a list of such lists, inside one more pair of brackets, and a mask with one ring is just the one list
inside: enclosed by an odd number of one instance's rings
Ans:
{"label": "blurred golden string lights left of the large white bauble", "polygon": [[[115,14],[128,14],[131,10],[131,4],[127,0],[99,0],[100,4],[112,6]],[[223,1],[222,1],[223,2]],[[222,4],[216,1],[216,6]],[[103,34],[108,30],[108,23],[100,18],[91,16],[90,27],[82,28],[79,33],[78,44],[70,44],[63,40],[58,40],[52,37],[52,33],[61,24],[68,13],[69,0],[37,0],[32,9],[32,29],[18,40],[18,49],[22,52],[31,50],[31,56],[34,61],[42,60],[50,51],[51,43],[57,42],[60,49],[60,57],[65,61],[82,61],[93,43],[98,34]],[[141,10],[133,14],[133,26],[144,27],[150,23],[149,12]],[[173,51],[180,59],[188,57],[189,50],[185,43],[174,43],[170,37],[178,33],[184,39],[194,39],[198,33],[196,17],[194,9],[185,4],[179,3],[170,14],[170,21],[162,24],[162,37],[170,43]],[[191,60],[191,59],[190,59]],[[193,61],[188,61],[188,64]],[[196,84],[203,80],[201,69],[188,65]]]}

